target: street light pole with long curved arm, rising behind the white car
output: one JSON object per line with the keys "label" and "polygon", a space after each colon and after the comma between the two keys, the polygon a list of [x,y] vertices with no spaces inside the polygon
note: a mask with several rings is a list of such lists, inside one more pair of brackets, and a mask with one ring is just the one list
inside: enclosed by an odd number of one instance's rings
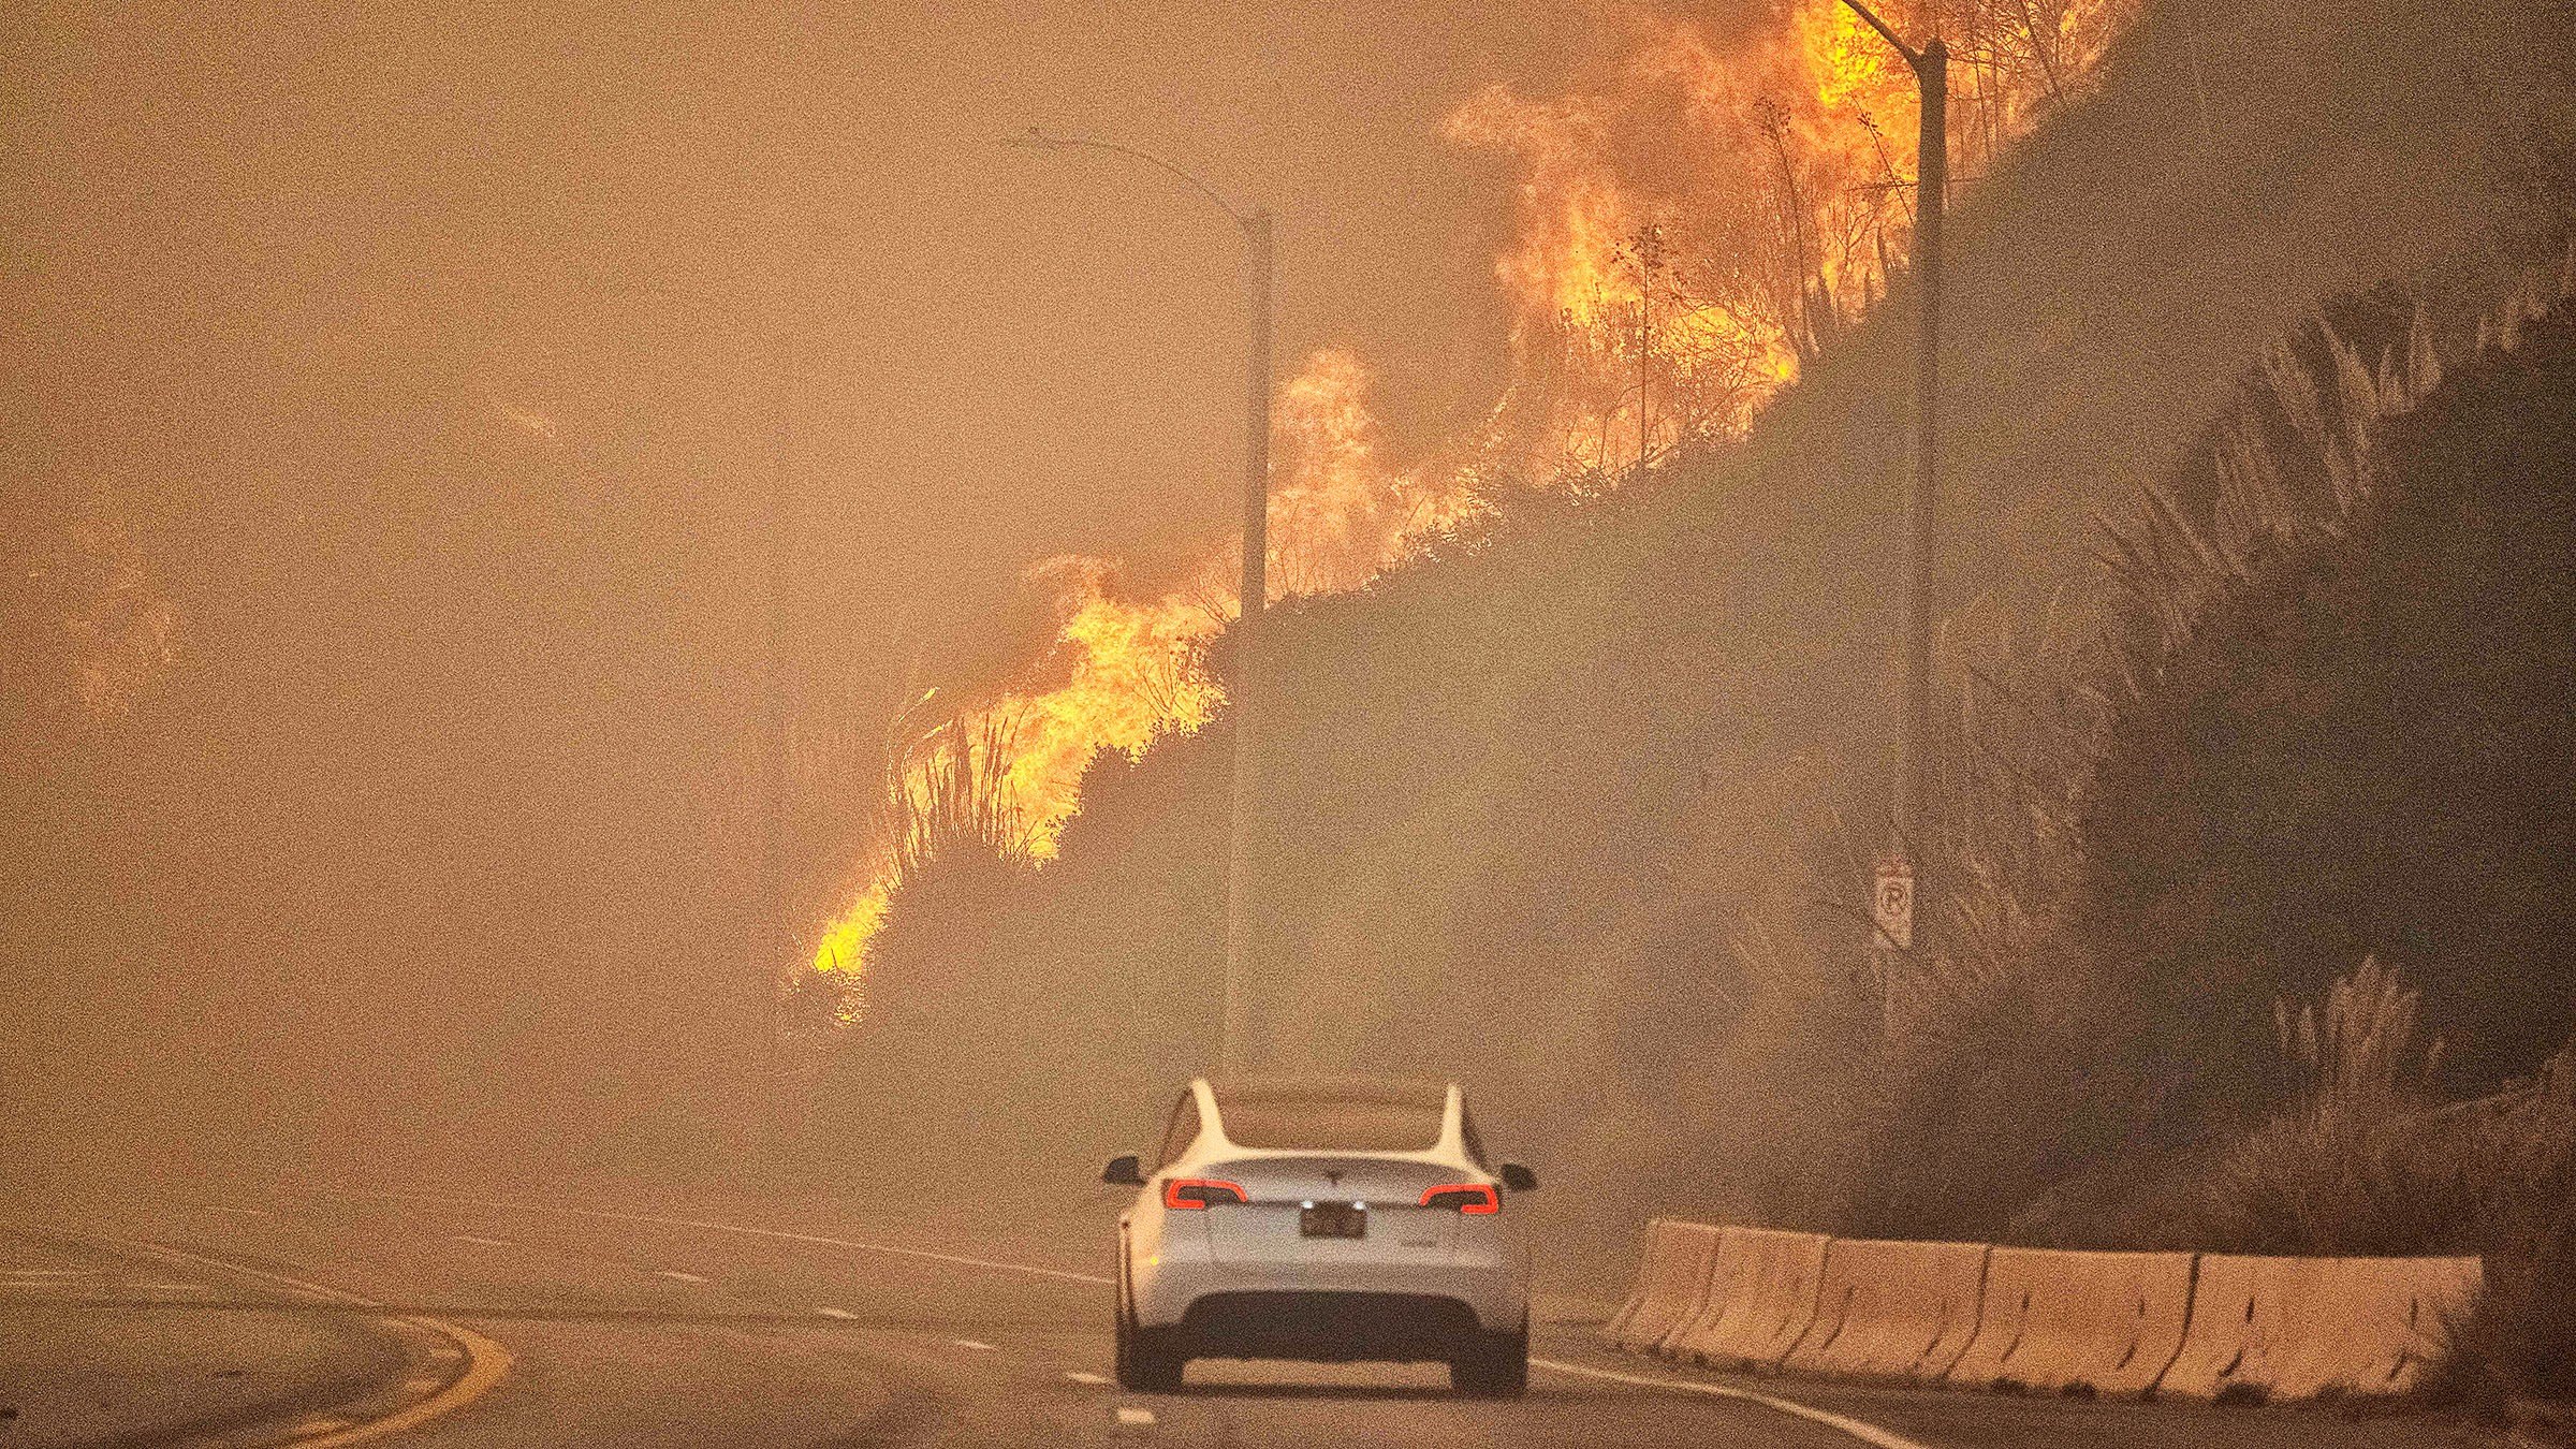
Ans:
{"label": "street light pole with long curved arm, rising behind the white car", "polygon": [[1273,219],[1265,206],[1236,206],[1195,173],[1146,150],[1092,137],[1051,137],[1036,126],[1010,137],[1007,144],[1100,150],[1141,160],[1185,180],[1244,232],[1244,302],[1252,317],[1252,338],[1244,356],[1244,578],[1234,624],[1234,688],[1226,709],[1234,722],[1234,794],[1226,820],[1226,1000],[1224,1036],[1218,1042],[1218,1070],[1231,1075],[1255,1062],[1252,1042],[1257,1034],[1252,1011],[1252,962],[1257,957],[1252,817],[1260,781],[1257,722],[1262,714],[1255,704],[1255,663],[1260,657],[1260,621],[1270,601],[1270,294],[1278,273]]}

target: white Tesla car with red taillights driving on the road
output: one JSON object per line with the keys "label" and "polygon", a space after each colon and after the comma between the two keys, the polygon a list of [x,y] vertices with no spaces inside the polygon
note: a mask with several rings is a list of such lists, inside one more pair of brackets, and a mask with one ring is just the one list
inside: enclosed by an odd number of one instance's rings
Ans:
{"label": "white Tesla car with red taillights driving on the road", "polygon": [[1118,1382],[1190,1359],[1440,1359],[1450,1385],[1530,1379],[1530,1253],[1455,1083],[1193,1080],[1118,1217]]}

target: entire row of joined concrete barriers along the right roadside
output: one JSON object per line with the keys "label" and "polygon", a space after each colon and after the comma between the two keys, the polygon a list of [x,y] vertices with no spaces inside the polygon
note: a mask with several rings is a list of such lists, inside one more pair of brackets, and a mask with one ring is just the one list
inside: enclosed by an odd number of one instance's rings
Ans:
{"label": "entire row of joined concrete barriers along the right roadside", "polygon": [[2403,1392],[2478,1258],[2246,1258],[1883,1243],[1654,1220],[1620,1348],[2038,1392]]}

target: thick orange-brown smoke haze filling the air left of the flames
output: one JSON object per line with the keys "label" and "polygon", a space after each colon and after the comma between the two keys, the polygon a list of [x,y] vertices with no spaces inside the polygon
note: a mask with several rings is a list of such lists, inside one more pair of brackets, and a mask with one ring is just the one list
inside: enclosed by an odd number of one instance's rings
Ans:
{"label": "thick orange-brown smoke haze filling the air left of the flames", "polygon": [[[992,139],[1095,129],[1275,206],[1283,366],[1350,343],[1435,436],[1499,379],[1512,201],[1437,119],[1615,26],[18,10],[8,1127],[613,1155],[616,1116],[724,1119],[778,469],[801,737],[1028,657],[1030,559],[1149,572],[1234,516],[1231,229]],[[108,719],[28,583],[72,536],[175,621]],[[809,910],[866,804],[806,802]]]}

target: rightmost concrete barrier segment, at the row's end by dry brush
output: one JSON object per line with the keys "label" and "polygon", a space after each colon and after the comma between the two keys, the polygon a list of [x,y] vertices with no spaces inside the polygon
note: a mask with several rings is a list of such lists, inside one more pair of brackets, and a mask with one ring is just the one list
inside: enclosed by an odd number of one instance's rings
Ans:
{"label": "rightmost concrete barrier segment, at the row's end by dry brush", "polygon": [[2205,1253],[2190,1333],[2159,1392],[2200,1400],[2403,1392],[2483,1279],[2478,1258]]}

